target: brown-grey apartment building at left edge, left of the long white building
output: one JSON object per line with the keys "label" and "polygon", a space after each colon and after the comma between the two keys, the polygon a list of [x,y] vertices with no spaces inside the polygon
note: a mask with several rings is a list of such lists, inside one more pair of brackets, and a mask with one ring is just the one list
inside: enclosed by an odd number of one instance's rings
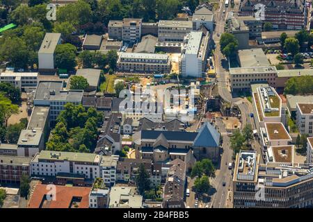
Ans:
{"label": "brown-grey apartment building at left edge, left of the long white building", "polygon": [[0,183],[19,183],[22,175],[29,176],[31,157],[0,155]]}

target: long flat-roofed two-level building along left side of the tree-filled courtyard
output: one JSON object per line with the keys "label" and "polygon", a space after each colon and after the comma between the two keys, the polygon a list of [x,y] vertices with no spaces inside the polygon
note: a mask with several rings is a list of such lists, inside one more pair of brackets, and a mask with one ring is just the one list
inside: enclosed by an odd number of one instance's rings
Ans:
{"label": "long flat-roofed two-level building along left side of the tree-filled courtyard", "polygon": [[50,132],[49,107],[35,106],[26,130],[17,141],[17,155],[32,157],[45,148]]}

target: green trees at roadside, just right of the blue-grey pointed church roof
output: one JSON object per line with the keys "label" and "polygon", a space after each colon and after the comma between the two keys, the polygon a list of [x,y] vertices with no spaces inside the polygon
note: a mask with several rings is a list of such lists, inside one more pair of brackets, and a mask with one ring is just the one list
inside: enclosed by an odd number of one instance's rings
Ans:
{"label": "green trees at roadside, just right of the blue-grey pointed church roof", "polygon": [[242,132],[239,129],[234,130],[230,137],[230,148],[234,154],[239,153],[241,150],[247,150],[248,144],[253,139],[253,130],[250,124],[247,124]]}

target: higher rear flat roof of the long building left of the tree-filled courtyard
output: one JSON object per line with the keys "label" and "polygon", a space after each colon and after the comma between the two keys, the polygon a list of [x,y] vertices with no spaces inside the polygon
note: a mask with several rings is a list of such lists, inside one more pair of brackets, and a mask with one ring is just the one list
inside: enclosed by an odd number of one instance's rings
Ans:
{"label": "higher rear flat roof of the long building left of the tree-filled courtyard", "polygon": [[49,107],[34,106],[27,130],[43,130],[49,115]]}

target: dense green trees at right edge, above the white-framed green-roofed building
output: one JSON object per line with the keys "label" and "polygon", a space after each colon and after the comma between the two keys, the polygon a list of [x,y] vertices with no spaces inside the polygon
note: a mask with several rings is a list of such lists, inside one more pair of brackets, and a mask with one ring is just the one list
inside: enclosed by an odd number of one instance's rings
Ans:
{"label": "dense green trees at right edge, above the white-framed green-roofed building", "polygon": [[313,76],[296,76],[289,78],[284,87],[284,94],[312,94]]}

